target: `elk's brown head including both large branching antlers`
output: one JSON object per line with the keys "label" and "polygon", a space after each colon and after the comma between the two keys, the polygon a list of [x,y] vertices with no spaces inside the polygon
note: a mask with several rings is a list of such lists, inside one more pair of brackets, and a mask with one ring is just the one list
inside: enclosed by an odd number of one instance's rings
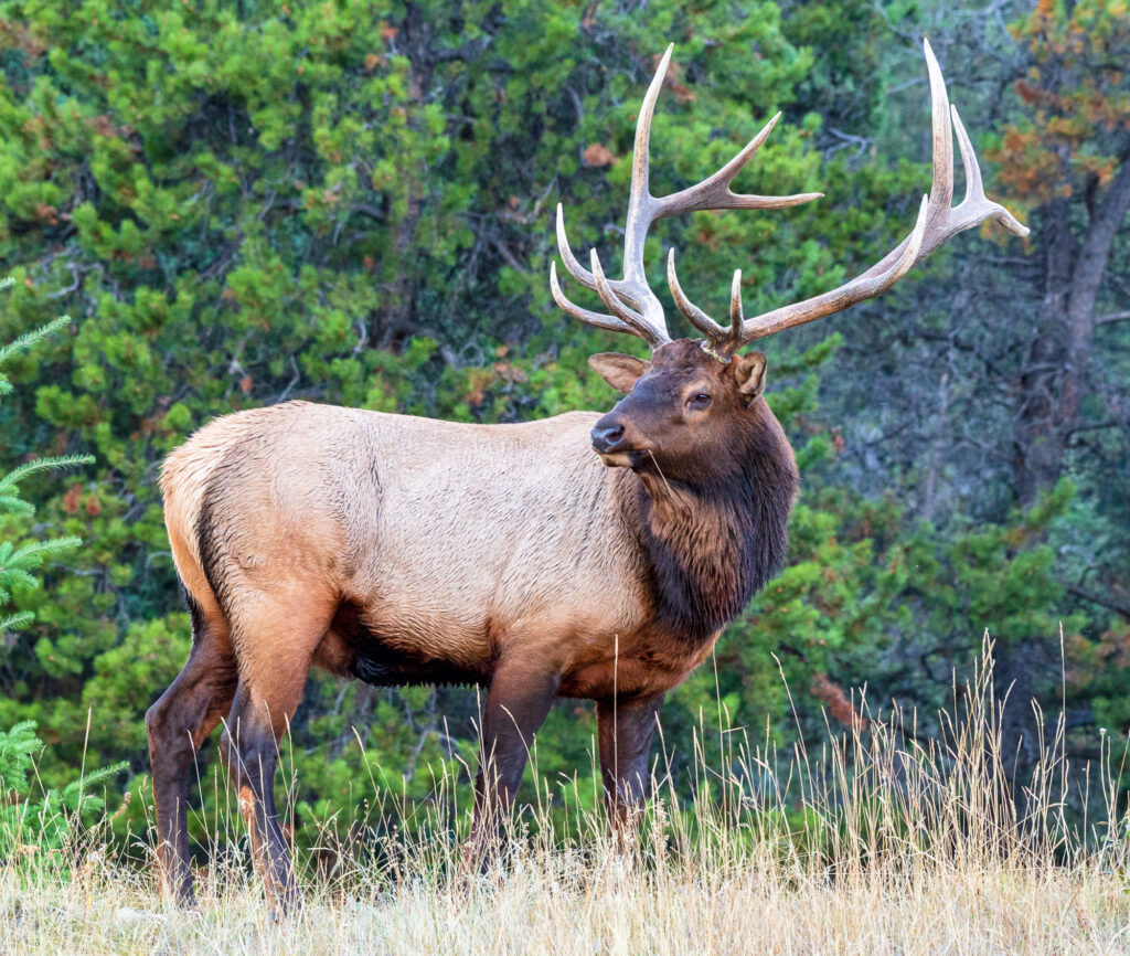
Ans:
{"label": "elk's brown head including both large branching antlers", "polygon": [[[957,110],[949,105],[946,84],[938,62],[923,41],[933,133],[933,182],[929,197],[922,197],[918,220],[910,235],[879,262],[851,281],[802,302],[784,305],[751,319],[741,307],[741,270],[733,273],[730,293],[730,323],[722,327],[687,298],[675,271],[675,250],[667,259],[667,280],[679,312],[699,331],[699,340],[672,341],[667,331],[663,306],[647,285],[644,270],[644,241],[657,219],[699,209],[783,209],[818,199],[822,193],[798,195],[746,195],[730,189],[738,172],[766,140],[777,113],[757,136],[721,170],[702,182],[670,195],[655,197],[649,189],[649,141],[672,46],[663,54],[655,77],[640,110],[635,148],[632,156],[632,186],[627,224],[624,231],[624,278],[609,279],[592,250],[591,269],[573,255],[565,235],[565,218],[557,206],[557,247],[570,275],[593,289],[608,313],[591,312],[575,305],[562,292],[556,263],[549,268],[549,286],[555,302],[570,315],[617,332],[644,339],[653,350],[651,362],[628,355],[601,353],[589,364],[626,398],[592,429],[593,449],[611,467],[636,470],[654,463],[664,476],[701,473],[719,461],[714,454],[740,442],[728,441],[764,414],[757,401],[765,386],[765,356],[760,353],[739,356],[738,350],[755,339],[771,336],[841,312],[857,302],[875,298],[925,259],[950,236],[997,219],[1016,235],[1027,235],[1002,206],[990,201],[981,182],[981,171]],[[965,197],[951,207],[954,197],[953,132],[965,168]],[[736,431],[738,429],[738,431]],[[721,458],[724,460],[725,454]]]}

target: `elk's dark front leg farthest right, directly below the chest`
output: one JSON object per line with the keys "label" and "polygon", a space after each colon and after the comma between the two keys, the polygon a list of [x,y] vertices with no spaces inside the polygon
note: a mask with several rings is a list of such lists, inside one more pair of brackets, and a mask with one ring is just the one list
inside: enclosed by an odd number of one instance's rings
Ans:
{"label": "elk's dark front leg farthest right, directly below the chest", "polygon": [[618,846],[634,832],[647,799],[647,756],[663,695],[597,702],[597,742],[605,807]]}

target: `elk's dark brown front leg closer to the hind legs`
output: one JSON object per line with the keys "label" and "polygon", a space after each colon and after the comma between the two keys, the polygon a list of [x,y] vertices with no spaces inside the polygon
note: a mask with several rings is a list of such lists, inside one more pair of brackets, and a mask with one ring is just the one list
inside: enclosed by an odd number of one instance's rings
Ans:
{"label": "elk's dark brown front leg closer to the hind legs", "polygon": [[483,869],[522,781],[533,735],[557,697],[556,673],[531,671],[522,663],[499,664],[483,713],[479,774],[475,781],[475,819],[466,869]]}

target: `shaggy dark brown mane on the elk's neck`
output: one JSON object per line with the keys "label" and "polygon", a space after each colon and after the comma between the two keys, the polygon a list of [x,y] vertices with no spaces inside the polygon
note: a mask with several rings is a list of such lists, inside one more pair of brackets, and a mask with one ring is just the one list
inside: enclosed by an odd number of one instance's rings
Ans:
{"label": "shaggy dark brown mane on the elk's neck", "polygon": [[762,412],[721,477],[669,481],[643,471],[625,488],[657,614],[692,642],[737,618],[784,564],[797,468],[781,426]]}

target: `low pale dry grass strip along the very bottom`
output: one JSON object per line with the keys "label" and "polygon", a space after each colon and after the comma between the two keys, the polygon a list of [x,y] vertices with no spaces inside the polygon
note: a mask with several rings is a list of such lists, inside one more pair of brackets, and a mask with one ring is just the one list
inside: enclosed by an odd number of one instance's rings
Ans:
{"label": "low pale dry grass strip along the very bottom", "polygon": [[662,868],[611,855],[523,854],[470,893],[409,875],[342,898],[307,895],[275,923],[242,877],[208,887],[199,912],[156,909],[137,878],[70,885],[0,879],[5,953],[1125,953],[1121,876],[1098,867],[918,859],[833,878],[758,853]]}

